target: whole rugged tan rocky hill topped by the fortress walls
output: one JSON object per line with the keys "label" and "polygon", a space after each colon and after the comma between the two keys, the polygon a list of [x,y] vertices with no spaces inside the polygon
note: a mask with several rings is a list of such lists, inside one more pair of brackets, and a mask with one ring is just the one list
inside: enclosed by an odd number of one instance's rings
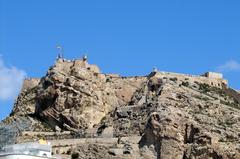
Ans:
{"label": "whole rugged tan rocky hill topped by the fortress walls", "polygon": [[59,59],[19,94],[0,143],[45,138],[66,158],[240,158],[240,95],[211,80]]}

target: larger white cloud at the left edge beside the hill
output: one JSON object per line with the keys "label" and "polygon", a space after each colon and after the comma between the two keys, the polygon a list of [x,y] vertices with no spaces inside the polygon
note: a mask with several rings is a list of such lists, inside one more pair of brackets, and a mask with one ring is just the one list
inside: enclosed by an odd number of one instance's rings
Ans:
{"label": "larger white cloud at the left edge beside the hill", "polygon": [[25,77],[25,71],[13,66],[7,67],[0,56],[0,100],[14,99]]}

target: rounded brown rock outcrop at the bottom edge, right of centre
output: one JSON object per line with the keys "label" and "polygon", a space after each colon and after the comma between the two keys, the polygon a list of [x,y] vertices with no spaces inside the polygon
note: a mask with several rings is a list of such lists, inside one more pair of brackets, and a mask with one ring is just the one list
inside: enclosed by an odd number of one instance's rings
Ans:
{"label": "rounded brown rock outcrop at the bottom edge, right of centre", "polygon": [[178,131],[168,117],[160,116],[157,112],[151,113],[139,142],[141,156],[182,159],[184,140]]}

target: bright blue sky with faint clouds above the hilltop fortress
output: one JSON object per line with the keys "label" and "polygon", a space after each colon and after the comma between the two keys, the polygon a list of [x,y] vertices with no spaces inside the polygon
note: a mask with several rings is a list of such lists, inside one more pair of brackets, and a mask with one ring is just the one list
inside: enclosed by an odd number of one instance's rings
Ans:
{"label": "bright blue sky with faint clouds above the hilltop fortress", "polygon": [[87,54],[106,73],[220,71],[240,89],[239,7],[237,0],[0,0],[0,119],[24,77],[45,75],[58,44],[66,58]]}

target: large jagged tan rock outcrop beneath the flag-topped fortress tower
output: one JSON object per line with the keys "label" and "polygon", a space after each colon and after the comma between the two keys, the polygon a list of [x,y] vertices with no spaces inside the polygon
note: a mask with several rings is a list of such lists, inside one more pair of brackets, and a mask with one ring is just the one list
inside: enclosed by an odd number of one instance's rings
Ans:
{"label": "large jagged tan rock outcrop beneath the flag-topped fortress tower", "polygon": [[91,128],[115,107],[127,104],[143,81],[101,74],[83,60],[59,60],[41,79],[35,114],[52,127]]}

